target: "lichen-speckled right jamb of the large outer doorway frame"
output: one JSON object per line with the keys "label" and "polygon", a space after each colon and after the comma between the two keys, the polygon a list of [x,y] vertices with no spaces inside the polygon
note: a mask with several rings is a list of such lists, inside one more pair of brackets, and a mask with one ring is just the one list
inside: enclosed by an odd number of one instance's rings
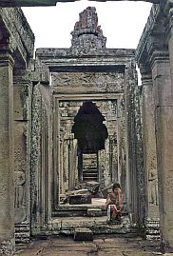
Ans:
{"label": "lichen-speckled right jamb of the large outer doorway frame", "polygon": [[132,220],[143,226],[145,207],[143,144],[139,88],[134,62],[129,62],[125,68],[125,129],[127,204]]}

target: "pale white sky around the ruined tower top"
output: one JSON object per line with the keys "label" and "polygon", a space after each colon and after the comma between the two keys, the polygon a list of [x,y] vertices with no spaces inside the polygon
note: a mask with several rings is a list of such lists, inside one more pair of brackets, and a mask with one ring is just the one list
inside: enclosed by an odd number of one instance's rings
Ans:
{"label": "pale white sky around the ruined tower top", "polygon": [[56,7],[23,8],[35,34],[35,48],[69,48],[70,32],[79,20],[79,13],[89,6],[96,8],[98,25],[106,36],[106,48],[136,49],[151,4],[87,0],[57,3]]}

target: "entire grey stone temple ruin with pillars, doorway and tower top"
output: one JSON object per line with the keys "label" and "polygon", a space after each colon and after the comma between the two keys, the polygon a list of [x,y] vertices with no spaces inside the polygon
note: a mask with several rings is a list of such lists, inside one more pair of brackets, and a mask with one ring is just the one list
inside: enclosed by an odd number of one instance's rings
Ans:
{"label": "entire grey stone temple ruin with pillars, doorway and tower top", "polygon": [[[35,59],[22,10],[0,9],[3,255],[15,242],[79,226],[160,235],[163,250],[173,248],[171,7],[153,5],[137,49],[106,49],[88,7],[69,49],[36,49]],[[123,190],[123,222],[108,228],[114,182]]]}

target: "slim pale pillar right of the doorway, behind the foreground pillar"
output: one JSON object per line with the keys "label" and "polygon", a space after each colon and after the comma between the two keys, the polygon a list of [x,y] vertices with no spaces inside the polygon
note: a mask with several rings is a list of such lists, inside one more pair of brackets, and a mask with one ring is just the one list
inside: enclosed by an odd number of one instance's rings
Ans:
{"label": "slim pale pillar right of the doorway, behind the foreground pillar", "polygon": [[149,67],[140,67],[142,73],[142,118],[144,142],[144,171],[146,191],[146,224],[159,221],[158,172],[152,74]]}

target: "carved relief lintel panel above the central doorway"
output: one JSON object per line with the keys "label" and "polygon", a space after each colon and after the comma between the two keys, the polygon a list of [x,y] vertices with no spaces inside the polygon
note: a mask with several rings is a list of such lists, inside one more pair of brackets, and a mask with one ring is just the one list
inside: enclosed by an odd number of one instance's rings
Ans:
{"label": "carved relief lintel panel above the central doorway", "polygon": [[123,92],[124,89],[124,74],[118,72],[52,72],[51,81],[55,89],[92,87],[109,92]]}

